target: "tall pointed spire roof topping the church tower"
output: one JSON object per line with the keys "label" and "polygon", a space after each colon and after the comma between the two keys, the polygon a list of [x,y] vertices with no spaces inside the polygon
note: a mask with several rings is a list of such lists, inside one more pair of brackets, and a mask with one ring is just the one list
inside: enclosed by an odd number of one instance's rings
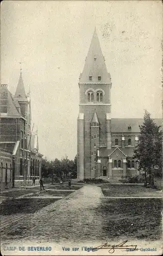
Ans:
{"label": "tall pointed spire roof topping the church tower", "polygon": [[[90,76],[92,76],[92,80],[89,79]],[[101,80],[98,80],[98,76],[101,77]],[[110,74],[107,72],[105,60],[102,55],[96,28],[79,82],[111,82]]]}

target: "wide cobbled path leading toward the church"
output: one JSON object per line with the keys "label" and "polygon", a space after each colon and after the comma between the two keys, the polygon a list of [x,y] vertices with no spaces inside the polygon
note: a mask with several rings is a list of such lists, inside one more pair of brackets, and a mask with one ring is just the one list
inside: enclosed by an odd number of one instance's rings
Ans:
{"label": "wide cobbled path leading toward the church", "polygon": [[[99,239],[101,219],[95,209],[104,198],[101,188],[84,186],[66,198],[52,203],[11,225],[2,233],[2,241],[88,241]],[[96,237],[95,237],[96,234]]]}

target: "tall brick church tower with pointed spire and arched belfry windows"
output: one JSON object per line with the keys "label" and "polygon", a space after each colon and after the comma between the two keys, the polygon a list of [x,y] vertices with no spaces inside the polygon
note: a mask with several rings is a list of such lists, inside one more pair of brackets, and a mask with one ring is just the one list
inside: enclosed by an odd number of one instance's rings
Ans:
{"label": "tall brick church tower with pointed spire and arched belfry windows", "polygon": [[96,29],[79,77],[77,178],[100,176],[100,147],[111,148],[111,76],[107,72]]}

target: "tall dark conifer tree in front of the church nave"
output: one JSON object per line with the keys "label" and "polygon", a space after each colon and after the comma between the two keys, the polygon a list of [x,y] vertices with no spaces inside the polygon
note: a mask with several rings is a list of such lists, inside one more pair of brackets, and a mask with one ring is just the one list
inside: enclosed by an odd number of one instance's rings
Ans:
{"label": "tall dark conifer tree in front of the church nave", "polygon": [[162,132],[160,126],[154,123],[150,114],[145,111],[143,125],[140,125],[140,137],[135,147],[133,158],[139,160],[139,169],[144,170],[145,186],[147,175],[149,184],[154,185],[154,168],[160,166],[162,161]]}

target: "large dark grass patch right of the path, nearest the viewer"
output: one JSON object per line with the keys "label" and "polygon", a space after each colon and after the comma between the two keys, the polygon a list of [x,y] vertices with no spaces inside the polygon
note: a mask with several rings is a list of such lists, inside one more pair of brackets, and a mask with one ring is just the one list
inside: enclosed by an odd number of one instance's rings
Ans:
{"label": "large dark grass patch right of the path, nearest the viewer", "polygon": [[96,211],[108,238],[161,239],[161,199],[103,199]]}

